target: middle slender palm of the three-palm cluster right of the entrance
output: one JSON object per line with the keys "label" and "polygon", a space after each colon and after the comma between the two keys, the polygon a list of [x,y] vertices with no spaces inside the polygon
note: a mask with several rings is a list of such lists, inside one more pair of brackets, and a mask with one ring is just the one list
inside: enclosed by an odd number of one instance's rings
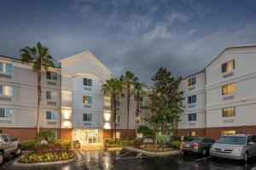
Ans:
{"label": "middle slender palm of the three-palm cluster right of the entrance", "polygon": [[134,85],[138,81],[138,78],[131,71],[126,71],[125,76],[121,76],[120,80],[123,82],[125,88],[127,88],[127,129],[129,129],[131,85]]}

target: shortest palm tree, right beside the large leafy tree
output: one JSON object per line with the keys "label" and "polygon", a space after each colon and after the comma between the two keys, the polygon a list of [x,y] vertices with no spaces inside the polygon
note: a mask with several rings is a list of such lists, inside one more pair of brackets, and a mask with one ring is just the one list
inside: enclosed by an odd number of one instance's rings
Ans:
{"label": "shortest palm tree, right beside the large leafy tree", "polygon": [[146,95],[146,92],[143,90],[143,83],[142,82],[135,82],[133,86],[132,93],[134,96],[134,99],[136,100],[136,117],[139,115],[140,111],[140,102],[143,101],[144,96]]}

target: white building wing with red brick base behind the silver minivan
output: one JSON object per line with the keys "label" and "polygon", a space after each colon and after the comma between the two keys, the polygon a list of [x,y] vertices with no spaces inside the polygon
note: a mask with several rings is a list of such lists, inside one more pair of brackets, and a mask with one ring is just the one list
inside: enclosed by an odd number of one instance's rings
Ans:
{"label": "white building wing with red brick base behind the silver minivan", "polygon": [[183,79],[185,110],[177,134],[218,139],[256,133],[255,63],[256,46],[229,47],[203,71]]}

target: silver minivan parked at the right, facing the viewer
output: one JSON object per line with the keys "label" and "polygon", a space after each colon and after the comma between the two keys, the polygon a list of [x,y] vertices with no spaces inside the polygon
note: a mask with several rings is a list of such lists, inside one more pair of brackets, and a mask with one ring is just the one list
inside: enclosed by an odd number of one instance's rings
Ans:
{"label": "silver minivan parked at the right, facing the viewer", "polygon": [[212,145],[211,156],[247,161],[256,156],[256,135],[230,134],[221,137]]}

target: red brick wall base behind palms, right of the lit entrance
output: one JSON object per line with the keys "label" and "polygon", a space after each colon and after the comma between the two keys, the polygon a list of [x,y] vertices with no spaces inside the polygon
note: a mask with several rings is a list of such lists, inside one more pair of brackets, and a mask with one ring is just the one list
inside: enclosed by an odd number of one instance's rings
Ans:
{"label": "red brick wall base behind palms, right of the lit entrance", "polygon": [[[114,130],[113,130],[114,132]],[[116,132],[120,133],[120,139],[135,139],[136,138],[136,130],[135,129],[117,129]],[[112,130],[103,130],[103,139],[111,138]]]}

